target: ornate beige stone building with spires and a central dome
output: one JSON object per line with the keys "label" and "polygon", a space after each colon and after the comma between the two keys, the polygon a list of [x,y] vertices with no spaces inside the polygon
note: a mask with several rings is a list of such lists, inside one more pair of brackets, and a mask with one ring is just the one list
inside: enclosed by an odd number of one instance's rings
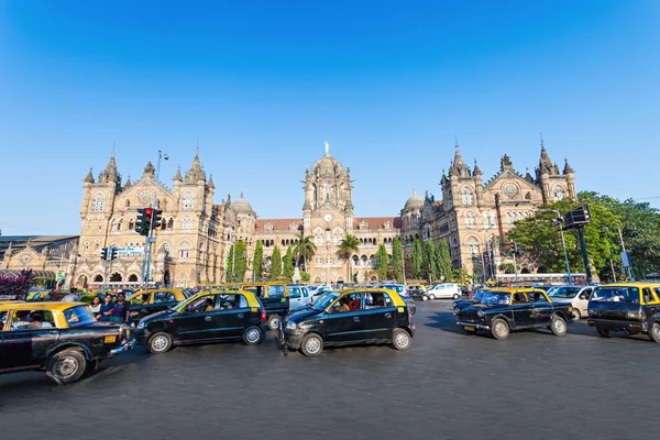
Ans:
{"label": "ornate beige stone building with spires and a central dome", "polygon": [[[440,174],[441,198],[436,200],[428,191],[425,197],[414,194],[399,215],[392,217],[354,216],[351,170],[332,157],[328,144],[326,154],[305,170],[302,183],[301,216],[262,219],[243,194],[233,202],[228,196],[215,205],[213,179],[207,178],[196,154],[185,176],[177,170],[172,187],[158,184],[163,223],[155,231],[150,279],[180,287],[220,284],[231,278],[224,268],[233,256],[231,243],[237,241],[248,245],[245,276],[250,278],[257,241],[264,244],[268,264],[275,245],[284,255],[301,235],[314,237],[317,246],[308,266],[315,283],[341,283],[353,275],[360,280],[374,279],[378,245],[385,244],[392,255],[395,238],[400,238],[408,256],[415,239],[447,240],[454,267],[490,277],[508,258],[504,252],[506,235],[516,220],[532,216],[543,202],[576,194],[571,166],[566,162],[560,172],[542,144],[535,176],[517,173],[505,155],[499,172],[485,182],[476,162],[468,166],[457,145],[449,173]],[[122,184],[114,154],[98,178],[90,169],[82,185],[79,240],[72,242],[66,255],[59,255],[58,267],[66,262],[65,286],[99,285],[105,279],[113,285],[139,284],[144,238],[135,232],[135,220],[138,209],[153,202],[155,188],[151,163],[135,183],[129,177]],[[358,238],[360,252],[342,261],[337,251],[346,234]],[[99,251],[109,246],[118,246],[120,256],[107,267]],[[30,246],[21,253],[10,251],[2,267],[19,270],[38,262],[41,270],[53,271],[55,258],[47,258],[44,252],[37,256],[40,252]]]}

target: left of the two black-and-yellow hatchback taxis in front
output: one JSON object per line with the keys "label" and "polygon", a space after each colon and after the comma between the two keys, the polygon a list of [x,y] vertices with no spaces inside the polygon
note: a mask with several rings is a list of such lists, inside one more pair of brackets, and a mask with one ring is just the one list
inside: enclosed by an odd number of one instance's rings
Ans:
{"label": "left of the two black-and-yellow hatchback taxis in front", "polygon": [[255,345],[264,340],[266,310],[246,290],[200,292],[172,309],[143,318],[135,338],[153,354],[174,345],[242,340]]}

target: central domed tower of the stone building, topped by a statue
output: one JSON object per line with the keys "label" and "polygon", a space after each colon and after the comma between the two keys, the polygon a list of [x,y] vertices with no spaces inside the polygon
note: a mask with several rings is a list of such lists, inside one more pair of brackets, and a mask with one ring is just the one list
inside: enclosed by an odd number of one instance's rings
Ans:
{"label": "central domed tower of the stone building, topped by a statue", "polygon": [[305,205],[302,226],[305,235],[312,235],[317,246],[309,272],[311,278],[323,282],[345,278],[345,265],[337,256],[339,243],[353,231],[353,197],[351,169],[330,155],[326,142],[326,154],[311,170],[305,170]]}

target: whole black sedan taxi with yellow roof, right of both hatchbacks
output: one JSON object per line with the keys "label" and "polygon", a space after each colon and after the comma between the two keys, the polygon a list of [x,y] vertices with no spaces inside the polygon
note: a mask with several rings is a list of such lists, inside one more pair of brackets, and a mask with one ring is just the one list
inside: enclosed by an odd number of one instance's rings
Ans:
{"label": "whole black sedan taxi with yellow roof, right of both hatchbacks", "polygon": [[457,312],[458,326],[475,333],[488,331],[495,339],[507,339],[512,330],[549,328],[558,337],[566,333],[573,319],[570,304],[552,302],[546,292],[534,288],[494,288],[481,304]]}

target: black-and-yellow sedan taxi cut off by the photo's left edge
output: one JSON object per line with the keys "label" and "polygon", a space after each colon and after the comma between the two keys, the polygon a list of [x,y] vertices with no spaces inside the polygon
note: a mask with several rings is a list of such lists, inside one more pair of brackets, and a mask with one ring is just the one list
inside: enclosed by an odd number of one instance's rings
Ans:
{"label": "black-and-yellow sedan taxi cut off by the photo's left edge", "polygon": [[133,344],[125,324],[97,322],[82,302],[0,304],[0,373],[45,371],[67,384]]}

